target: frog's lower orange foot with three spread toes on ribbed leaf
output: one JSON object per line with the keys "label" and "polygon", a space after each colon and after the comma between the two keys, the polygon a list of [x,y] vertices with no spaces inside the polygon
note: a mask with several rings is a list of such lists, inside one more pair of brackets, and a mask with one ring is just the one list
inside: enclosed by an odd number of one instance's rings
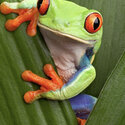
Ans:
{"label": "frog's lower orange foot with three spread toes on ribbed leaf", "polygon": [[51,78],[51,80],[42,78],[37,76],[36,74],[32,73],[29,70],[26,70],[22,73],[22,78],[28,82],[34,82],[40,85],[40,90],[37,91],[29,91],[25,93],[24,100],[27,103],[31,103],[36,99],[41,98],[41,94],[48,91],[56,91],[63,86],[63,81],[55,72],[53,66],[51,64],[46,64],[44,66],[44,72],[47,76]]}

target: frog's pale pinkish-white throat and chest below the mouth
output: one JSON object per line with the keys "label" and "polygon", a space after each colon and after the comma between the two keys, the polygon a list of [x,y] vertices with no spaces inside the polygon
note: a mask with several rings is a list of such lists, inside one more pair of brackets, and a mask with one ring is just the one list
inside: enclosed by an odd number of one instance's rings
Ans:
{"label": "frog's pale pinkish-white throat and chest below the mouth", "polygon": [[59,75],[67,82],[76,72],[81,57],[92,44],[78,42],[41,28],[41,33],[54,59]]}

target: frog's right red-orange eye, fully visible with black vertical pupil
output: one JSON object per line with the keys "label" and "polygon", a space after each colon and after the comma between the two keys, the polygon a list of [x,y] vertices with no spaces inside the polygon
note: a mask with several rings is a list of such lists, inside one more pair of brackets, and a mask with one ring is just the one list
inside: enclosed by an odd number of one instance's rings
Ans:
{"label": "frog's right red-orange eye, fully visible with black vertical pupil", "polygon": [[89,33],[95,33],[102,27],[102,24],[102,16],[99,13],[92,13],[86,18],[85,29]]}

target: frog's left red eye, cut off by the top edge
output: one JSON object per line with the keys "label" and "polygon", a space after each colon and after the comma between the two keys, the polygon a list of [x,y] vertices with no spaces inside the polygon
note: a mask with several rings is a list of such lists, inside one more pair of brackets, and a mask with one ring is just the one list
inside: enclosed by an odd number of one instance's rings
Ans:
{"label": "frog's left red eye, cut off by the top edge", "polygon": [[37,8],[41,15],[45,15],[49,8],[50,0],[38,0]]}

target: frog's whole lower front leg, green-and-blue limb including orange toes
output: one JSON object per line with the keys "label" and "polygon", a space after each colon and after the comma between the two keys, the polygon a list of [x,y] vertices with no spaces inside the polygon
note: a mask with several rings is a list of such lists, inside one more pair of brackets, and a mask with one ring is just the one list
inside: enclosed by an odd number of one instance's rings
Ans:
{"label": "frog's whole lower front leg, green-and-blue limb including orange toes", "polygon": [[[44,87],[41,87],[41,93],[39,93],[38,96],[35,95],[34,99],[29,101],[28,103],[38,98],[47,98],[52,100],[65,100],[72,98],[82,92],[86,87],[88,87],[96,76],[95,68],[91,64],[82,67],[66,84],[63,84],[63,81],[56,74],[52,65],[45,65],[44,72],[50,78],[52,78],[52,80],[47,80],[45,78],[39,77],[31,71],[25,71],[22,74],[22,78],[25,81],[35,82],[38,85]],[[25,97],[28,97],[28,100],[30,100],[29,98],[31,98],[30,95],[32,92],[28,93],[30,94],[26,94],[24,96],[24,99]],[[37,93],[37,91],[35,91],[35,93]],[[27,99],[25,99],[25,101],[26,100]]]}

